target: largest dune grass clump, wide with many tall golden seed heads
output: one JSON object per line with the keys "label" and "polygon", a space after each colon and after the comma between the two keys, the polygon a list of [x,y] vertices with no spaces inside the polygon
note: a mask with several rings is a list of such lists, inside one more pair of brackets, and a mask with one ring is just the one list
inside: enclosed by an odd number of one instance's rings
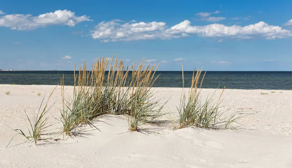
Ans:
{"label": "largest dune grass clump, wide with many tall golden seed heads", "polygon": [[145,61],[142,61],[137,69],[135,64],[126,68],[123,60],[113,58],[98,58],[91,64],[90,71],[85,62],[78,74],[74,70],[73,99],[70,101],[64,98],[62,82],[61,121],[65,134],[73,135],[75,128],[82,124],[93,126],[91,121],[105,114],[127,115],[131,131],[137,131],[142,124],[160,116],[162,107],[157,107],[158,101],[152,101],[155,66],[143,69]]}

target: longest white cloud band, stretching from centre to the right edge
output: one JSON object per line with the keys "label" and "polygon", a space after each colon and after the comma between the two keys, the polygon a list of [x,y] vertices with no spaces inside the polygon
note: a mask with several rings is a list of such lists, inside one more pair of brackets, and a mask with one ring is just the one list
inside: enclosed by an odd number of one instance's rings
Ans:
{"label": "longest white cloud band, stretching from centre to the right edge", "polygon": [[[291,21],[292,22],[292,21]],[[173,39],[197,35],[201,37],[224,37],[236,39],[251,39],[255,36],[266,39],[292,37],[292,31],[282,29],[280,26],[268,25],[260,21],[247,26],[225,26],[224,24],[208,24],[205,26],[192,26],[189,20],[167,28],[164,22],[123,22],[111,20],[100,22],[91,31],[94,39],[102,42]]]}

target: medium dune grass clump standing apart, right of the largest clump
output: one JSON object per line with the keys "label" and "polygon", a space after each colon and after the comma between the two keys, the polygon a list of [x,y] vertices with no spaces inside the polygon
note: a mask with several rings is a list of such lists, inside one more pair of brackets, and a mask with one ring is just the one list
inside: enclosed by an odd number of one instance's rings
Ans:
{"label": "medium dune grass clump standing apart, right of the largest clump", "polygon": [[[206,72],[205,72],[206,73]],[[206,100],[201,99],[201,85],[203,83],[205,73],[202,76],[201,83],[201,69],[193,71],[192,82],[189,88],[189,93],[184,93],[184,79],[183,92],[180,106],[177,107],[179,111],[179,126],[184,128],[187,126],[196,126],[200,128],[210,129],[228,129],[234,128],[231,124],[236,122],[239,117],[235,114],[225,116],[225,111],[220,110],[220,98],[224,92],[224,88],[217,101],[214,101],[214,95],[208,96]],[[183,76],[184,77],[184,76]]]}

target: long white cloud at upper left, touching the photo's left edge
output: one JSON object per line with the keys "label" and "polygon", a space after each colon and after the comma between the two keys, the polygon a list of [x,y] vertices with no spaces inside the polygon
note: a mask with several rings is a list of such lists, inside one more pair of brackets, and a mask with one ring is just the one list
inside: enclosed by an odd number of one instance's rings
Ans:
{"label": "long white cloud at upper left, touching the photo's left edge", "polygon": [[54,13],[41,14],[32,16],[30,14],[12,14],[0,17],[0,27],[10,27],[12,30],[34,30],[39,27],[50,25],[67,25],[75,26],[75,24],[83,21],[92,21],[88,16],[75,16],[74,12],[67,10],[57,10]]}

